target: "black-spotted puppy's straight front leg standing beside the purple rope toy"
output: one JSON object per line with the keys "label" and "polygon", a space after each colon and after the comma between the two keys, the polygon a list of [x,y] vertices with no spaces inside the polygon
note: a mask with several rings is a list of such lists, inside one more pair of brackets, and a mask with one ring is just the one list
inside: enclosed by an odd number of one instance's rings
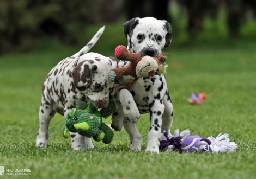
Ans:
{"label": "black-spotted puppy's straight front leg standing beside the purple rope toy", "polygon": [[156,152],[159,154],[161,126],[164,112],[164,105],[160,100],[150,100],[150,129],[147,136],[147,152]]}

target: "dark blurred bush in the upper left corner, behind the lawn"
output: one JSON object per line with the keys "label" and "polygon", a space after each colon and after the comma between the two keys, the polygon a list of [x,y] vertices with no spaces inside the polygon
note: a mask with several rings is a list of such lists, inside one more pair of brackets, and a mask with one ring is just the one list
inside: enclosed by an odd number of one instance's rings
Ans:
{"label": "dark blurred bush in the upper left corner, behind the lawn", "polygon": [[86,3],[80,0],[1,0],[0,54],[29,49],[39,36],[74,44],[87,16]]}

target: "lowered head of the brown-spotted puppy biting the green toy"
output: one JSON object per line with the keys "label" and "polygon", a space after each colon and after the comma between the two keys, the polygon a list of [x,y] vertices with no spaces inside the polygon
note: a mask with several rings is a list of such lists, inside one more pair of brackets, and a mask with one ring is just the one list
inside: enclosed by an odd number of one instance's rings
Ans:
{"label": "lowered head of the brown-spotted puppy biting the green toy", "polygon": [[114,82],[108,72],[118,67],[117,61],[110,57],[84,60],[73,69],[74,84],[79,91],[93,101],[96,108],[106,108]]}

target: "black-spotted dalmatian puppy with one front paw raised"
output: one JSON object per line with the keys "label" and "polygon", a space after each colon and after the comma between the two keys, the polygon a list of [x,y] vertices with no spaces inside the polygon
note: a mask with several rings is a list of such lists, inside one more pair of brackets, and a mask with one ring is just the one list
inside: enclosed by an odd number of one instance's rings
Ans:
{"label": "black-spotted dalmatian puppy with one front paw raised", "polygon": [[[159,56],[164,47],[172,40],[172,29],[167,21],[153,17],[133,18],[124,23],[124,33],[128,40],[127,49],[131,53],[148,56]],[[168,60],[168,59],[167,59]],[[120,61],[119,67],[126,66],[128,61]],[[124,76],[120,84],[127,84],[131,76]],[[117,93],[118,111],[112,114],[111,126],[119,131],[124,125],[130,136],[130,148],[141,150],[142,138],[135,123],[140,114],[150,113],[150,127],[147,136],[147,152],[159,153],[159,137],[161,132],[172,126],[173,105],[168,92],[166,77],[155,75],[139,78],[128,90]]]}

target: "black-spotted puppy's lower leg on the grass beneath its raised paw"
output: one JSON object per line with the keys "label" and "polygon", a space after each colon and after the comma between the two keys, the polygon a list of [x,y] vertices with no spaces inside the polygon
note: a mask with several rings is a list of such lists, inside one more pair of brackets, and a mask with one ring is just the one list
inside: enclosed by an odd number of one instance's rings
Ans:
{"label": "black-spotted puppy's lower leg on the grass beneath its raised paw", "polygon": [[131,123],[129,120],[124,119],[124,129],[130,137],[130,149],[141,150],[142,138],[136,129],[135,123]]}

